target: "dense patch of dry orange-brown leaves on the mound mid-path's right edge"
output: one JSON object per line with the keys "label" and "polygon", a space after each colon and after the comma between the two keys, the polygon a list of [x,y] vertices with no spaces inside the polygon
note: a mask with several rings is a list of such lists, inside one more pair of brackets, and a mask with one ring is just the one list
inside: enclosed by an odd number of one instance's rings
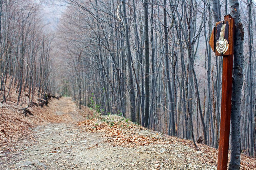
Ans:
{"label": "dense patch of dry orange-brown leaves on the mound mid-path's right edge", "polygon": [[126,119],[117,115],[101,116],[99,119],[79,122],[78,125],[84,126],[88,132],[103,132],[104,136],[108,137],[105,142],[113,146],[134,147],[172,141],[159,133],[152,133],[140,125],[130,121],[126,122]]}

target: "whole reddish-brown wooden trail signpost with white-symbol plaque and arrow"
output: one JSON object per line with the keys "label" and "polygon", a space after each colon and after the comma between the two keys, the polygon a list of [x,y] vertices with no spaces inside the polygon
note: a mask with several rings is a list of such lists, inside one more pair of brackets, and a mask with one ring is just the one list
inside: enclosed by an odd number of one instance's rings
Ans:
{"label": "whole reddish-brown wooden trail signpost with white-symbol plaque and arrow", "polygon": [[211,49],[215,52],[215,55],[223,56],[218,170],[227,170],[228,164],[234,28],[234,19],[231,17],[231,15],[225,15],[224,21],[216,22],[216,27],[214,27],[212,30],[209,40],[209,44]]}

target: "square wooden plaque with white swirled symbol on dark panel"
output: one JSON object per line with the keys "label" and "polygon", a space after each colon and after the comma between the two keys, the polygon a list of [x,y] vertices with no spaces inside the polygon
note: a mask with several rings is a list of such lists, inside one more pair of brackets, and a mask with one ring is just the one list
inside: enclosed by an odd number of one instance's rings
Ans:
{"label": "square wooden plaque with white swirled symbol on dark panel", "polygon": [[215,55],[233,55],[234,19],[216,22]]}

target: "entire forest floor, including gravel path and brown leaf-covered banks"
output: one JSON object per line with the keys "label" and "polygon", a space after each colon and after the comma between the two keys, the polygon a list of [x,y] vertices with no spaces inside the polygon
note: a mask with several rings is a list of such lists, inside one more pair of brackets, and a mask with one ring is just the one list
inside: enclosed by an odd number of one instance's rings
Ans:
{"label": "entire forest floor, including gravel path and brown leaf-covered banks", "polygon": [[[71,98],[33,107],[0,104],[0,169],[217,169],[218,150],[169,137],[117,115],[93,117]],[[241,169],[256,160],[241,155]]]}

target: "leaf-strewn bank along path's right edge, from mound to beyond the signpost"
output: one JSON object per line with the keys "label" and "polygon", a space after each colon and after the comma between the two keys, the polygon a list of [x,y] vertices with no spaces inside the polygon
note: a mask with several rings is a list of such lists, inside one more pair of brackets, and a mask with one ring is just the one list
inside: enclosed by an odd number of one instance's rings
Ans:
{"label": "leaf-strewn bank along path's right edge, from mound to beyond the signpost", "polygon": [[[104,115],[98,118],[78,122],[78,126],[90,133],[99,133],[105,137],[104,141],[109,145],[121,147],[136,147],[143,145],[167,146],[167,149],[175,150],[173,146],[184,148],[184,155],[189,159],[194,159],[201,165],[206,163],[217,169],[218,149],[197,143],[195,148],[193,141],[164,135],[162,133],[149,130],[140,125],[132,123],[130,120],[118,115]],[[94,146],[94,148],[97,146]],[[90,148],[89,148],[90,149]],[[187,151],[189,150],[189,151]],[[175,157],[175,155],[173,155]],[[230,160],[230,154],[229,158]],[[229,162],[228,160],[228,162]],[[188,165],[189,167],[189,165]],[[192,167],[189,167],[192,168]],[[195,168],[195,167],[194,167]],[[157,168],[156,168],[157,169]],[[203,167],[201,167],[203,169]],[[241,154],[241,169],[256,170],[256,159]]]}

